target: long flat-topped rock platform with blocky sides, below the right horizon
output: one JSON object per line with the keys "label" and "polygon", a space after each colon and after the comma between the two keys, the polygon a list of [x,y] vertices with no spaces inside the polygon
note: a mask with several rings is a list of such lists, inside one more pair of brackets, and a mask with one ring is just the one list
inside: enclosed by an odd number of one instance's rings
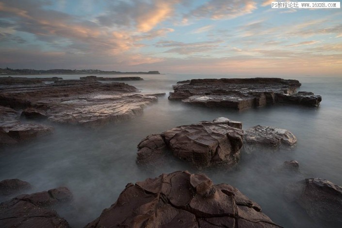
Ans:
{"label": "long flat-topped rock platform with blocky sides, below the right horizon", "polygon": [[237,110],[275,103],[318,106],[321,96],[310,92],[295,94],[300,85],[297,80],[280,78],[193,79],[177,82],[169,99]]}

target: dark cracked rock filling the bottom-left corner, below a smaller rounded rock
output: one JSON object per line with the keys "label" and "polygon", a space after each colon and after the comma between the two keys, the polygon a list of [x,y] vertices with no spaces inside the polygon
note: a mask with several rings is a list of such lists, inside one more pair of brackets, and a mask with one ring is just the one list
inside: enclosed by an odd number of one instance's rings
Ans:
{"label": "dark cracked rock filling the bottom-left corner, below a smaller rounded rock", "polygon": [[58,202],[47,191],[19,195],[0,204],[0,227],[69,228],[69,224],[57,212],[46,208]]}

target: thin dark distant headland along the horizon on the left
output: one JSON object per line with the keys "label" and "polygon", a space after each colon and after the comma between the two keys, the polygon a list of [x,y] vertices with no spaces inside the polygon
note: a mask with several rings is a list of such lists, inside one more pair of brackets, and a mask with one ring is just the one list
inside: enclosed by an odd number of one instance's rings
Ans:
{"label": "thin dark distant headland along the horizon on the left", "polygon": [[0,75],[37,75],[37,74],[161,74],[157,70],[148,72],[120,72],[120,71],[103,71],[93,69],[69,70],[69,69],[51,69],[51,70],[33,70],[33,69],[11,69],[0,68]]}

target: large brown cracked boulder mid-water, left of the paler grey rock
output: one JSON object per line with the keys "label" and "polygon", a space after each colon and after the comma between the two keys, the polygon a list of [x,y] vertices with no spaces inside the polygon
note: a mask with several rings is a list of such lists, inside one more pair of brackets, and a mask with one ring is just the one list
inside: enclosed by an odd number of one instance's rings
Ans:
{"label": "large brown cracked boulder mid-water, left of the paler grey rock", "polygon": [[230,120],[219,121],[202,121],[147,136],[138,145],[137,163],[162,165],[171,153],[196,168],[234,167],[240,160],[243,130],[229,126]]}

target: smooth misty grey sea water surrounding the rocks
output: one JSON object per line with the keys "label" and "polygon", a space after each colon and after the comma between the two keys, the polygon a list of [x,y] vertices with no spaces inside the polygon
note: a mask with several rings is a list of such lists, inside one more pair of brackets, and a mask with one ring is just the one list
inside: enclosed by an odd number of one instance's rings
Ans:
{"label": "smooth misty grey sea water surrounding the rocks", "polygon": [[[78,79],[80,76],[59,77]],[[97,130],[42,121],[55,128],[53,134],[1,148],[0,180],[18,178],[28,181],[35,186],[32,192],[67,186],[74,194],[74,206],[58,209],[58,213],[72,227],[83,227],[97,218],[103,209],[110,207],[129,182],[176,170],[194,172],[183,163],[171,163],[153,171],[139,169],[135,159],[141,139],[151,133],[224,116],[242,121],[244,130],[258,124],[290,130],[298,139],[297,146],[274,153],[255,151],[250,156],[242,154],[236,170],[227,172],[219,169],[204,173],[214,183],[224,182],[237,187],[283,227],[320,227],[305,211],[288,203],[282,193],[287,184],[305,178],[323,178],[342,185],[341,77],[281,77],[298,79],[302,83],[299,91],[321,95],[323,101],[318,108],[275,105],[243,112],[191,106],[167,99],[177,81],[236,76],[166,74],[141,77],[145,80],[126,83],[143,93],[166,93],[159,97],[157,103],[148,106],[141,116]],[[284,161],[290,160],[299,162],[300,173],[280,168]]]}

